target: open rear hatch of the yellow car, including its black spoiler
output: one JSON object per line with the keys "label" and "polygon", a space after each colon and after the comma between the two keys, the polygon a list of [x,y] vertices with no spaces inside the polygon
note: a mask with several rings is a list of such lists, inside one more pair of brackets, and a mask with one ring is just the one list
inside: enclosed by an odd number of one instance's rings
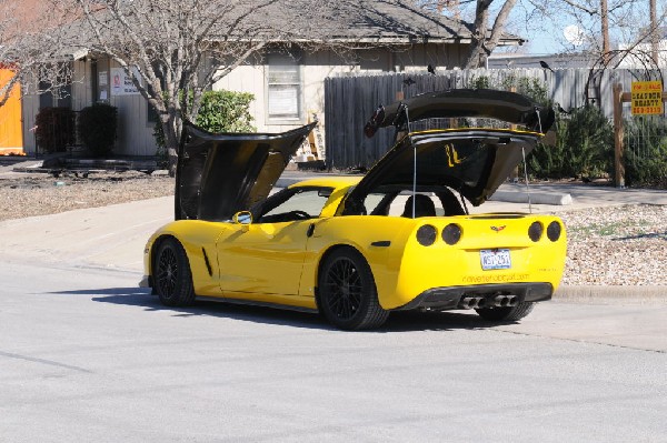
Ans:
{"label": "open rear hatch of the yellow car, including its black spoiler", "polygon": [[[461,128],[410,132],[410,123],[427,119],[490,118],[512,129]],[[366,123],[372,137],[379,128],[407,133],[350,192],[348,208],[361,208],[365,197],[382,189],[446,185],[474,205],[484,203],[549,130],[554,110],[507,91],[455,89],[428,92],[379,107]],[[514,129],[517,127],[521,129]],[[349,213],[349,212],[348,212]]]}

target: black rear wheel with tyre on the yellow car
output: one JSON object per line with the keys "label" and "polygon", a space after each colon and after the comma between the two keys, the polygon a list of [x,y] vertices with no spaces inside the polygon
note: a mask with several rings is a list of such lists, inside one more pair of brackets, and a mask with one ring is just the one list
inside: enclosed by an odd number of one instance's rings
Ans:
{"label": "black rear wheel with tyre on the yellow car", "polygon": [[334,251],[318,279],[319,309],[332,325],[345,330],[378,328],[389,316],[380,306],[370,266],[351,248]]}

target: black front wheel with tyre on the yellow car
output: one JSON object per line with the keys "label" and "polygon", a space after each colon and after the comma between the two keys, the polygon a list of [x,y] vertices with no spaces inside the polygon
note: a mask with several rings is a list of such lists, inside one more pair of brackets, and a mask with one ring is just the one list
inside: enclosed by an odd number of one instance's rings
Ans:
{"label": "black front wheel with tyre on the yellow car", "polygon": [[183,246],[175,239],[162,241],[153,265],[155,290],[167,306],[187,306],[195,301],[192,274]]}

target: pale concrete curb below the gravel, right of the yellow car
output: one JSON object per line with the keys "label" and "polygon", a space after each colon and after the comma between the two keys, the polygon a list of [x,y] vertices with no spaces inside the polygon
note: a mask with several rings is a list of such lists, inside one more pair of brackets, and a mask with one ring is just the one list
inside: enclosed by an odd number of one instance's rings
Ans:
{"label": "pale concrete curb below the gravel, right of the yellow car", "polygon": [[564,302],[667,303],[667,286],[564,285],[556,290],[554,300]]}

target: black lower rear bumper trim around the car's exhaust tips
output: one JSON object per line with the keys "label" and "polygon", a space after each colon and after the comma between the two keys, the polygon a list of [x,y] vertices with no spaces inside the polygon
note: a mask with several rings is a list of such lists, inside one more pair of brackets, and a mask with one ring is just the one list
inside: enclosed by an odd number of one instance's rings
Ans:
{"label": "black lower rear bumper trim around the car's exhaust tips", "polygon": [[397,311],[412,309],[454,310],[466,309],[464,299],[478,296],[490,301],[497,295],[515,295],[518,302],[541,302],[550,300],[554,294],[551,283],[509,283],[478,284],[471,286],[434,288],[419,294],[410,303],[397,308]]}

